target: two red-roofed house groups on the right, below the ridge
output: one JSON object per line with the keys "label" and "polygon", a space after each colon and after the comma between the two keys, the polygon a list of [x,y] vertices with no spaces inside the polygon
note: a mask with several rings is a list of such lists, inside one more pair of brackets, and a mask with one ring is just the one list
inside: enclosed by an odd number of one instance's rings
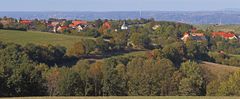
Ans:
{"label": "two red-roofed house groups on the right, below the ridge", "polygon": [[[216,37],[222,37],[224,39],[240,39],[240,36],[237,36],[236,34],[232,33],[232,32],[212,32],[211,33],[211,37],[212,38],[216,38]],[[197,42],[202,42],[202,41],[206,41],[206,35],[204,33],[199,33],[197,32],[196,29],[193,29],[191,31],[185,32],[183,37],[181,38],[184,42],[188,41],[188,40],[194,40]]]}

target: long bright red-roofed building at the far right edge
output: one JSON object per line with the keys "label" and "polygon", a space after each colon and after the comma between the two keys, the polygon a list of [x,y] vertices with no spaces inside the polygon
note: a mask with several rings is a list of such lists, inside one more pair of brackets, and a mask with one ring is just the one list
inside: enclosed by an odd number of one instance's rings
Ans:
{"label": "long bright red-roofed building at the far right edge", "polygon": [[225,39],[238,39],[237,36],[234,33],[231,32],[213,32],[212,37],[222,37]]}

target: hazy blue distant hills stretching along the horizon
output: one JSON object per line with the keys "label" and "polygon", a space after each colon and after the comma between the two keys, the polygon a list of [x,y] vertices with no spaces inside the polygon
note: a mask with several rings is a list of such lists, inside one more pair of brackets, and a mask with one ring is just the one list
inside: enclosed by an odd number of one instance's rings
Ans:
{"label": "hazy blue distant hills stretching along the horizon", "polygon": [[0,17],[22,19],[137,19],[154,18],[156,20],[177,21],[190,24],[240,24],[240,10],[222,11],[117,11],[117,12],[0,12]]}

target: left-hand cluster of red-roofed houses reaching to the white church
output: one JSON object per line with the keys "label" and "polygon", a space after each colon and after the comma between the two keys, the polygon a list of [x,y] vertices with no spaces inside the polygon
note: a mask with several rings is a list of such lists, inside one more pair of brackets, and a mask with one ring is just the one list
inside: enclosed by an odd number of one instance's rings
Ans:
{"label": "left-hand cluster of red-roofed houses reaching to the white church", "polygon": [[[94,23],[85,21],[85,20],[67,20],[67,19],[49,19],[49,20],[38,20],[48,28],[48,32],[62,32],[64,30],[76,30],[77,32],[80,32],[86,28],[95,28],[96,25]],[[13,23],[19,23],[23,25],[27,25],[31,29],[31,27],[34,26],[34,20],[22,20],[21,18],[19,20],[15,20],[12,18],[5,18],[0,20],[0,23],[3,25],[11,25]],[[112,26],[108,21],[104,21],[102,24],[102,27],[105,27],[105,29],[111,29]],[[117,30],[128,30],[130,25],[127,25],[126,22],[123,22],[121,27]]]}

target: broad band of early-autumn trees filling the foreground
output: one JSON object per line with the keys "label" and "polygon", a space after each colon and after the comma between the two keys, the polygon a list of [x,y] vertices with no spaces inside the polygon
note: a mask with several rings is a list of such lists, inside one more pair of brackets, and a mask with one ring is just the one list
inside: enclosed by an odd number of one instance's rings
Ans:
{"label": "broad band of early-autumn trees filling the foreground", "polygon": [[65,59],[61,47],[1,42],[0,96],[239,95],[238,72],[224,81],[208,81],[191,59],[204,53],[184,46],[175,43],[141,57],[80,59],[73,66],[58,66],[51,63]]}

